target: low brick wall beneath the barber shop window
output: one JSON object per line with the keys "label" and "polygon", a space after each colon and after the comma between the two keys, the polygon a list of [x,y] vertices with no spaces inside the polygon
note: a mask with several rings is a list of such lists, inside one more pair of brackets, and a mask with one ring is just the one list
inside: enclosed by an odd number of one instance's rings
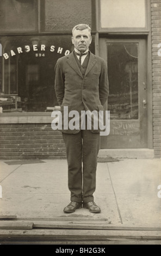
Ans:
{"label": "low brick wall beneath the barber shop window", "polygon": [[63,137],[51,124],[1,124],[0,159],[64,159]]}

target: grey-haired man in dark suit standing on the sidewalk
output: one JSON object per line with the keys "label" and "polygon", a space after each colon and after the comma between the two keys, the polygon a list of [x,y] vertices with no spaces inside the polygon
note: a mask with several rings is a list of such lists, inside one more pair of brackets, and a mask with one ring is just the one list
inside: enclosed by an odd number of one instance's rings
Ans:
{"label": "grey-haired man in dark suit standing on the sidewalk", "polygon": [[[63,120],[64,107],[68,111],[103,111],[108,97],[107,66],[104,60],[89,51],[91,28],[79,24],[72,29],[72,44],[75,50],[59,58],[55,65],[55,94]],[[68,185],[71,202],[64,212],[75,212],[82,207],[90,212],[101,212],[94,202],[96,188],[97,155],[100,145],[100,130],[63,129],[68,163]],[[82,164],[83,163],[83,164]]]}

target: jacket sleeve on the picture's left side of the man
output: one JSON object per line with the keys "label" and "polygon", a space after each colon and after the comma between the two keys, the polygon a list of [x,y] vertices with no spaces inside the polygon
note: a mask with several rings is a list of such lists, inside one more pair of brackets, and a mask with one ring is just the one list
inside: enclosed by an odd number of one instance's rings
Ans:
{"label": "jacket sleeve on the picture's left side of the man", "polygon": [[62,65],[60,62],[60,59],[57,60],[57,63],[55,65],[55,94],[58,100],[59,105],[61,106],[63,99],[64,99],[64,73],[62,70]]}

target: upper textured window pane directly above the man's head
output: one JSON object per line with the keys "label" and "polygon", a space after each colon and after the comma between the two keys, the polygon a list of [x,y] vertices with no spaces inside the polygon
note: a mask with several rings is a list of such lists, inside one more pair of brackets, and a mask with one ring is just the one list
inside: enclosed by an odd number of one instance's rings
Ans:
{"label": "upper textured window pane directly above the man's head", "polygon": [[42,5],[41,8],[42,20],[45,20],[44,28],[42,28],[44,31],[71,31],[79,23],[86,23],[89,26],[94,25],[92,24],[91,3],[95,1],[46,0],[43,2],[44,8]]}

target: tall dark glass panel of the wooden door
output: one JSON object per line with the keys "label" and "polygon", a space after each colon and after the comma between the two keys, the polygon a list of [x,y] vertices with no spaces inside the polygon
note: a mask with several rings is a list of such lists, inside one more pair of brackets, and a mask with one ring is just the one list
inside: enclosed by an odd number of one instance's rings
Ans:
{"label": "tall dark glass panel of the wooden door", "polygon": [[107,44],[110,119],[138,119],[138,44]]}

